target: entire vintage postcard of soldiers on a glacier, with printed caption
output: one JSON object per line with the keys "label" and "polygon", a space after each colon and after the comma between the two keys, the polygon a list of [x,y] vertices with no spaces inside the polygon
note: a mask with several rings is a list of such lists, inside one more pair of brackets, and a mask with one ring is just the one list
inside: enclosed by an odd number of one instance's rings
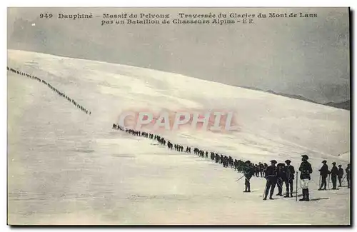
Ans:
{"label": "entire vintage postcard of soldiers on a glacier, with printed caption", "polygon": [[351,225],[350,9],[7,14],[9,225]]}

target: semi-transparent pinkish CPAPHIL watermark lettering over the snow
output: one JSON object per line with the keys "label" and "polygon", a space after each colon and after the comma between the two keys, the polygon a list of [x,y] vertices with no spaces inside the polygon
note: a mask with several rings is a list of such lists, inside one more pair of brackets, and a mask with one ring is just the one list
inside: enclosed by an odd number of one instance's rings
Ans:
{"label": "semi-transparent pinkish CPAPHIL watermark lettering over the snow", "polygon": [[178,130],[190,128],[201,131],[238,131],[233,111],[124,111],[118,119],[119,126],[133,130]]}

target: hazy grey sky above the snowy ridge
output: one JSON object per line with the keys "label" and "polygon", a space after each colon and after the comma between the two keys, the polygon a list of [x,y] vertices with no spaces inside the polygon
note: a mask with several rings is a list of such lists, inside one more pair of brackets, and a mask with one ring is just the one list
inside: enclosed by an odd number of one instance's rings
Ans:
{"label": "hazy grey sky above the snowy ridge", "polygon": [[[41,13],[54,14],[40,19]],[[102,14],[317,14],[254,24],[113,24]],[[58,19],[92,13],[93,19]],[[9,8],[8,48],[169,71],[319,103],[350,98],[348,8]],[[199,90],[199,86],[198,86]],[[213,93],[214,94],[214,93]]]}

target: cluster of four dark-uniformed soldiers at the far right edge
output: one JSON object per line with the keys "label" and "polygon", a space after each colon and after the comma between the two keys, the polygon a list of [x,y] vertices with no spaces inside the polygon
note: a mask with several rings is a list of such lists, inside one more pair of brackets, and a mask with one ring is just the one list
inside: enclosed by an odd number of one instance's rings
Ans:
{"label": "cluster of four dark-uniformed soldiers at the far right edge", "polygon": [[[338,165],[338,168],[336,167],[336,162],[332,163],[332,168],[331,171],[328,170],[328,165],[326,164],[327,161],[322,161],[323,165],[322,167],[318,170],[320,172],[320,178],[321,178],[321,185],[320,188],[318,188],[319,191],[321,190],[326,190],[326,178],[328,177],[328,182],[330,181],[330,175],[331,175],[331,182],[332,182],[332,188],[331,189],[337,189],[337,180],[338,180],[338,187],[342,187],[342,181],[343,181],[343,168],[342,165]],[[350,164],[348,163],[345,171],[346,171],[346,178],[347,178],[347,188],[350,188],[350,179],[351,179],[351,173],[350,173]]]}

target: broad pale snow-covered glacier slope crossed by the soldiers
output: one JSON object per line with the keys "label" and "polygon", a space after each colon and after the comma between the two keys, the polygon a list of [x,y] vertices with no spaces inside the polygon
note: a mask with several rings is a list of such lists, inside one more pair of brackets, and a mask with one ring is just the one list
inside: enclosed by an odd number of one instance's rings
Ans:
{"label": "broad pale snow-covered glacier slope crossed by the soldiers", "polygon": [[[349,191],[316,191],[321,159],[349,162],[349,111],[188,76],[27,51],[8,66],[39,76],[89,109],[76,109],[44,84],[8,72],[9,223],[348,224]],[[149,139],[112,131],[127,109],[225,109],[240,130],[161,131],[183,146],[233,158],[298,166],[311,157],[309,203],[262,201],[262,178],[243,194],[239,173]],[[333,210],[332,210],[333,209]],[[259,218],[257,220],[256,218]]]}

